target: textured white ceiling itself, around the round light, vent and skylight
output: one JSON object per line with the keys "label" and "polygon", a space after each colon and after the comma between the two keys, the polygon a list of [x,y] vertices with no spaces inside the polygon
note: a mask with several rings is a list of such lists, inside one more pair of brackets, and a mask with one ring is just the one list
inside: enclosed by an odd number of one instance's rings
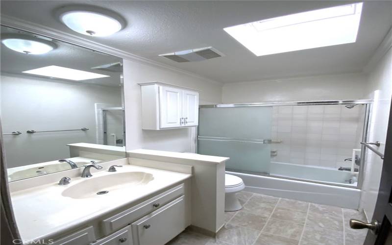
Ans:
{"label": "textured white ceiling itself, around the round light, vent and skylight", "polygon": [[[122,15],[126,27],[109,37],[88,37],[61,24],[55,11],[75,1],[1,1],[1,14],[165,63],[219,82],[255,81],[361,72],[392,26],[392,1],[364,2],[357,42],[257,57],[224,27],[348,1],[83,1]],[[224,57],[176,63],[158,54],[212,46]]]}

